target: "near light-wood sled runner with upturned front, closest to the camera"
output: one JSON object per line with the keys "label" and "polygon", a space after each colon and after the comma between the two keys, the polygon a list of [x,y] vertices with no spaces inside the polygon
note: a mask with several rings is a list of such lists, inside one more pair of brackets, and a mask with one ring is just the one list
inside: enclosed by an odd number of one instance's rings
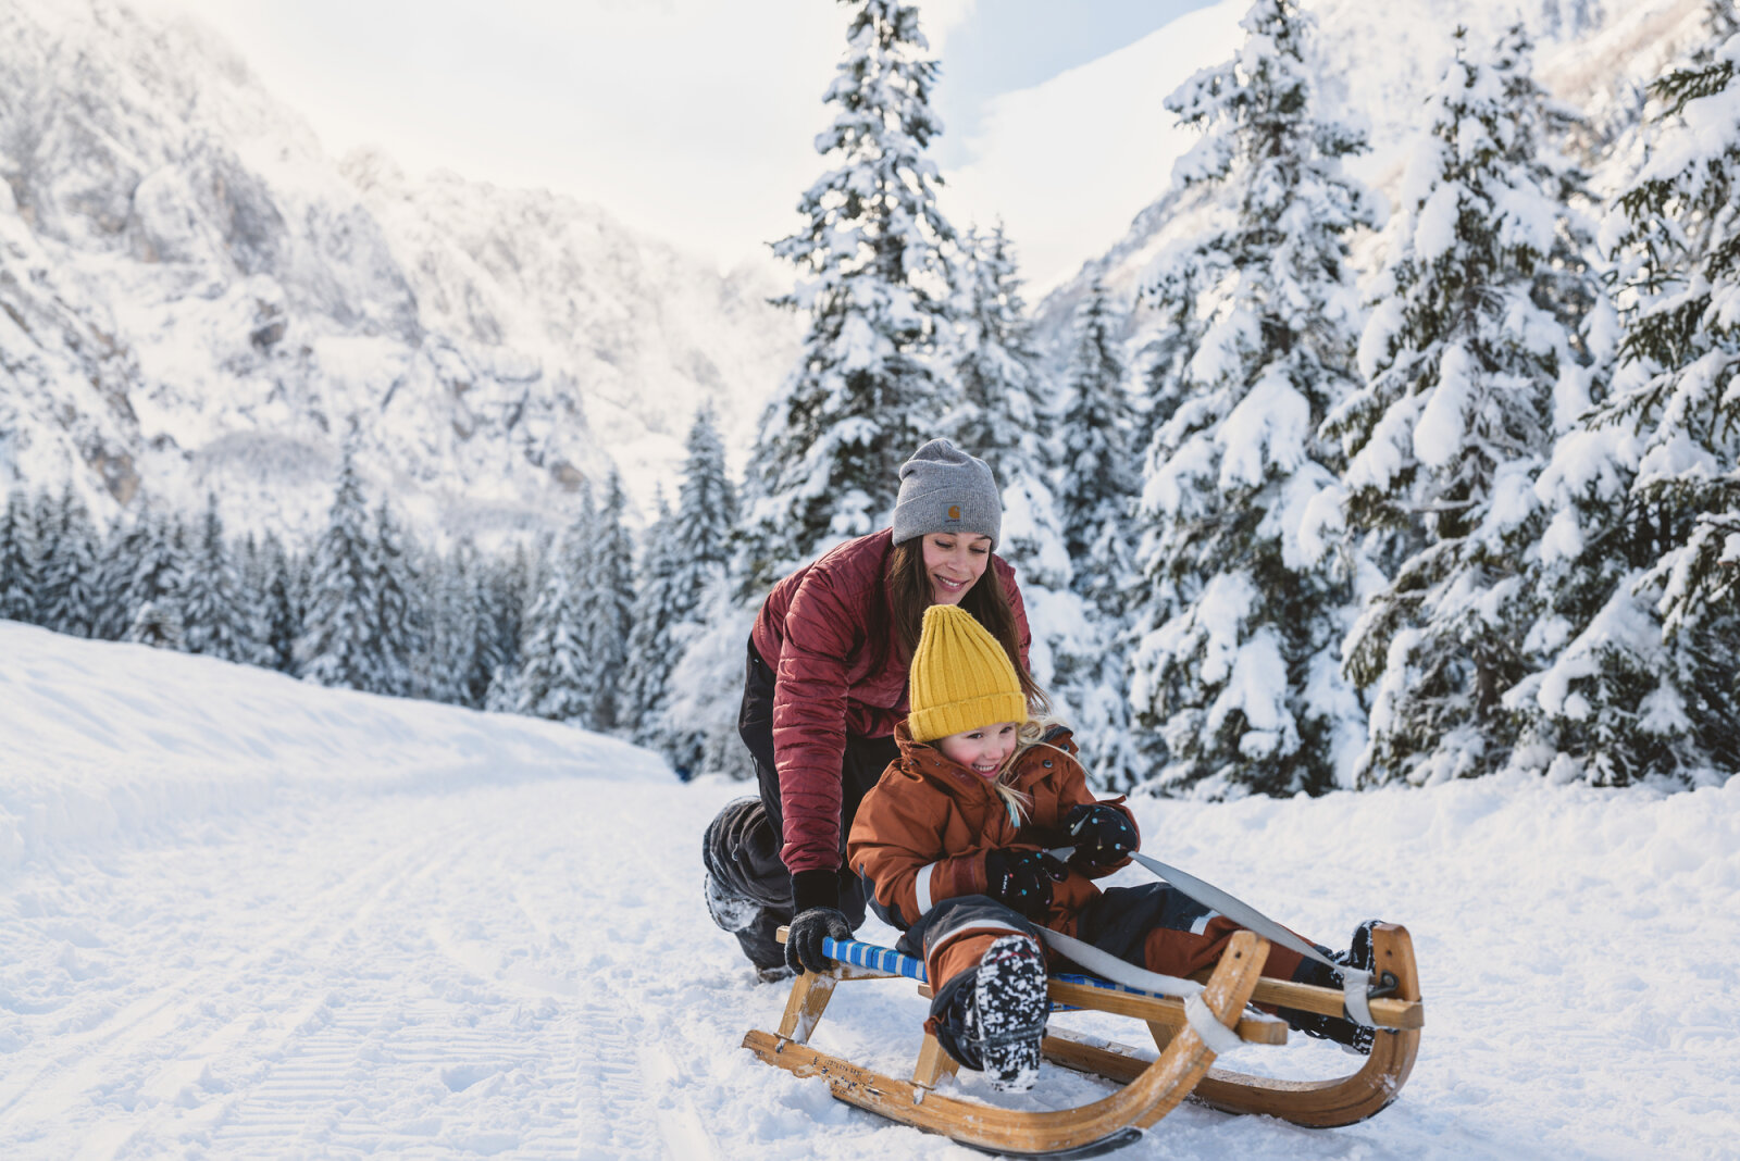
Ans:
{"label": "near light-wood sled runner with upturned front, closest to the camera", "polygon": [[[1215,1018],[1228,1027],[1239,1024],[1267,958],[1267,940],[1251,932],[1234,933],[1202,992]],[[799,977],[799,984],[806,979]],[[1119,1137],[1133,1125],[1154,1125],[1190,1095],[1215,1062],[1215,1053],[1187,1025],[1171,1036],[1157,1060],[1147,1062],[1129,1078],[1126,1088],[1077,1109],[1027,1112],[955,1100],[917,1081],[882,1076],[804,1045],[807,1025],[821,1015],[821,1005],[832,991],[832,980],[826,984],[814,1003],[799,1001],[793,989],[786,1024],[793,1025],[797,1038],[752,1031],[743,1038],[743,1046],[793,1076],[825,1078],[839,1100],[978,1149],[1009,1154],[1063,1152]],[[793,1010],[800,1010],[795,1020]]]}

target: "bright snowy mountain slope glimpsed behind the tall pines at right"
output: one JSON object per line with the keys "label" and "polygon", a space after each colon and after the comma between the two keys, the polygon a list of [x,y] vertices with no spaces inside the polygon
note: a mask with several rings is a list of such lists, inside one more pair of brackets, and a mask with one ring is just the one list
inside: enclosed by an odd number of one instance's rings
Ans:
{"label": "bright snowy mountain slope glimpsed behind the tall pines at right", "polygon": [[[1195,70],[1225,59],[1242,36],[1237,24],[1249,7],[1249,0],[1221,0],[1192,14],[1183,42],[1171,26],[1162,28],[1126,49],[1143,68],[1126,61],[1121,71],[1150,78],[1143,82],[1145,92],[1169,92]],[[1636,122],[1643,87],[1700,35],[1705,0],[1310,0],[1305,7],[1317,19],[1326,87],[1340,89],[1333,96],[1369,129],[1371,151],[1348,169],[1394,195],[1406,139],[1418,125],[1425,92],[1442,71],[1458,24],[1467,26],[1476,42],[1489,42],[1503,26],[1524,19],[1538,40],[1538,80],[1590,120],[1587,144],[1594,148]],[[1154,85],[1154,78],[1161,83]],[[1115,92],[1103,92],[1101,99],[1122,101]],[[1155,108],[1148,116],[1171,125],[1166,109]],[[1178,132],[1152,132],[1140,146],[1168,153],[1169,163],[1190,141]],[[1611,155],[1611,165],[1625,163],[1623,151]],[[1618,177],[1622,174],[1611,179]],[[1067,351],[1063,339],[1075,308],[1096,276],[1128,302],[1154,257],[1197,228],[1192,210],[1201,195],[1171,188],[1155,195],[1122,238],[1084,261],[1075,276],[1037,304],[1039,335],[1049,346]],[[1128,332],[1147,325],[1148,320],[1136,313]]]}

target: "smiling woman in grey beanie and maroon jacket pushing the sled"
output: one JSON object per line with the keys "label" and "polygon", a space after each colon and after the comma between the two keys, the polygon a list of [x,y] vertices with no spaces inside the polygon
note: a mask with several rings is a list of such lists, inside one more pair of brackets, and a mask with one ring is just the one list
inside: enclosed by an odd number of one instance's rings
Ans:
{"label": "smiling woman in grey beanie and maroon jacket pushing the sled", "polygon": [[[760,796],[727,805],[701,845],[708,912],[762,979],[825,970],[821,939],[846,939],[863,923],[846,834],[900,754],[893,733],[907,716],[924,610],[973,614],[1039,699],[1021,591],[992,554],[1000,528],[990,466],[931,440],[900,468],[893,528],[835,546],[762,603],[738,716]],[[792,926],[783,951],[781,925]]]}

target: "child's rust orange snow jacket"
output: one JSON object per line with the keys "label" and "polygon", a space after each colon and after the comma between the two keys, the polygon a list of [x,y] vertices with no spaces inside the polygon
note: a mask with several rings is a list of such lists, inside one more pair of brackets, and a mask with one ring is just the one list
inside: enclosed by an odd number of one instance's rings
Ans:
{"label": "child's rust orange snow jacket", "polygon": [[[860,803],[846,852],[877,911],[901,930],[943,899],[983,895],[985,852],[1056,846],[1065,841],[1060,831],[1070,806],[1100,801],[1088,789],[1081,763],[1058,753],[1075,753],[1068,730],[1049,735],[1056,749],[1034,746],[1016,756],[1011,786],[1034,799],[1020,826],[988,780],[943,758],[934,746],[914,742],[905,721],[894,740],[900,760]],[[1122,798],[1107,801],[1136,824]],[[1053,885],[1044,926],[1068,930],[1068,916],[1100,893],[1093,879],[1128,864],[1124,859],[1091,876],[1070,867],[1068,878]]]}

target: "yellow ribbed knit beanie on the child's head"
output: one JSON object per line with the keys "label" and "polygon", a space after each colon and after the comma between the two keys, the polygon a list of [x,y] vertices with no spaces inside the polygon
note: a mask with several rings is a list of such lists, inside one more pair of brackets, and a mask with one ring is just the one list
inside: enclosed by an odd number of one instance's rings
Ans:
{"label": "yellow ribbed knit beanie on the child's head", "polygon": [[959,605],[924,610],[908,678],[912,740],[931,742],[995,721],[1027,721],[1027,695],[1009,653]]}

